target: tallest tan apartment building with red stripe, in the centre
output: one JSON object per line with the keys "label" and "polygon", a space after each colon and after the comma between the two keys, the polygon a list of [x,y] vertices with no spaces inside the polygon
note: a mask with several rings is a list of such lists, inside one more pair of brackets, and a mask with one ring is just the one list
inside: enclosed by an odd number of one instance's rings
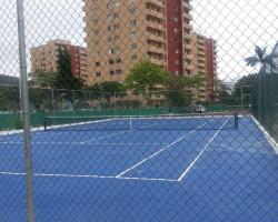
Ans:
{"label": "tallest tan apartment building with red stripe, in the centre", "polygon": [[123,81],[142,58],[191,73],[189,0],[85,0],[88,83]]}

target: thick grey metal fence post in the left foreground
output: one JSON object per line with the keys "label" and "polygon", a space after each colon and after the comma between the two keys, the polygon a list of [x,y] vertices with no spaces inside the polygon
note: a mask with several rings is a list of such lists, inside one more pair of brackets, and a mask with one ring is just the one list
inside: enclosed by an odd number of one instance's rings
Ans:
{"label": "thick grey metal fence post in the left foreground", "polygon": [[26,183],[27,183],[27,212],[28,221],[34,222],[33,192],[32,192],[32,161],[31,161],[31,133],[30,133],[30,110],[27,78],[27,54],[24,38],[23,0],[17,0],[18,17],[18,40],[20,60],[20,83],[22,99],[23,139],[24,139],[24,160],[26,160]]}

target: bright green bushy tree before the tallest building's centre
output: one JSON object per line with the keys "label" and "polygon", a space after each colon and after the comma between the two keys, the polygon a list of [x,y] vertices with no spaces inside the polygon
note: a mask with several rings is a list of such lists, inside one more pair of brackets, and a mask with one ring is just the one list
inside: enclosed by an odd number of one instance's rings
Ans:
{"label": "bright green bushy tree before the tallest building's centre", "polygon": [[132,89],[136,93],[142,93],[150,98],[151,91],[159,87],[165,88],[169,84],[169,72],[149,60],[141,60],[131,69],[131,73],[126,79],[127,89]]}

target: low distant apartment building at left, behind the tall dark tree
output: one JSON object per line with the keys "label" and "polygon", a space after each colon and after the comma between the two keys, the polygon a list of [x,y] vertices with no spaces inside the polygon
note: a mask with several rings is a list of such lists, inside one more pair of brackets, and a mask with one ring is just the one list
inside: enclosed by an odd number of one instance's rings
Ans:
{"label": "low distant apartment building at left, behind the tall dark tree", "polygon": [[79,46],[71,44],[67,40],[51,40],[46,44],[33,47],[31,53],[31,71],[57,71],[58,49],[68,50],[71,60],[72,74],[78,78],[87,79],[87,52],[86,49]]}

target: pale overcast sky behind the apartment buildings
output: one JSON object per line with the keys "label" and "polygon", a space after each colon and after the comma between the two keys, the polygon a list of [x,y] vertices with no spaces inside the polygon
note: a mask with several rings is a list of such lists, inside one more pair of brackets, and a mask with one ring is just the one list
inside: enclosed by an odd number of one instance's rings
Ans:
{"label": "pale overcast sky behind the apartment buildings", "polygon": [[[17,0],[0,6],[0,74],[18,75]],[[193,29],[217,41],[218,77],[226,82],[256,71],[245,58],[255,46],[271,51],[278,41],[278,0],[191,0]],[[24,0],[28,69],[29,49],[51,39],[86,46],[82,0]],[[276,13],[275,13],[276,12]]]}

